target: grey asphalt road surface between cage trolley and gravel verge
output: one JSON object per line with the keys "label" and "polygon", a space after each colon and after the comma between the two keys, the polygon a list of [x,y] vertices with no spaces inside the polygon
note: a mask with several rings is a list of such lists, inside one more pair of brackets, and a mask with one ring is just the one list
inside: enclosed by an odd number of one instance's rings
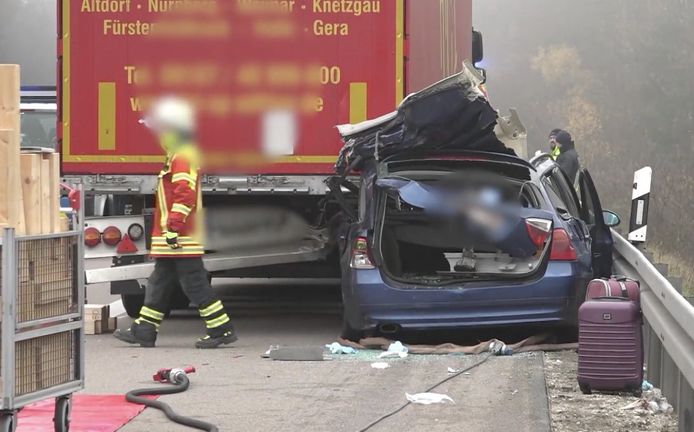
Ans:
{"label": "grey asphalt road surface between cage trolley and gravel verge", "polygon": [[[192,364],[197,373],[190,376],[190,389],[161,400],[182,414],[217,424],[220,431],[352,432],[401,406],[405,393],[423,392],[448,377],[449,367],[462,369],[483,357],[410,355],[388,360],[390,367],[382,370],[371,367],[378,353],[370,351],[323,362],[262,359],[270,345],[320,346],[333,342],[340,330],[333,293],[311,303],[316,287],[307,288],[306,296],[289,287],[274,289],[285,293],[279,304],[261,301],[248,307],[248,296],[242,296],[246,306],[232,312],[240,339],[230,348],[194,349],[204,326],[193,311],[166,320],[154,349],[126,346],[111,335],[88,336],[85,392],[149,387],[159,368]],[[301,314],[291,313],[292,299]],[[238,298],[230,304],[239,304]],[[434,391],[455,404],[410,405],[370,430],[549,431],[541,354],[492,357]],[[148,408],[121,430],[191,429]]]}

